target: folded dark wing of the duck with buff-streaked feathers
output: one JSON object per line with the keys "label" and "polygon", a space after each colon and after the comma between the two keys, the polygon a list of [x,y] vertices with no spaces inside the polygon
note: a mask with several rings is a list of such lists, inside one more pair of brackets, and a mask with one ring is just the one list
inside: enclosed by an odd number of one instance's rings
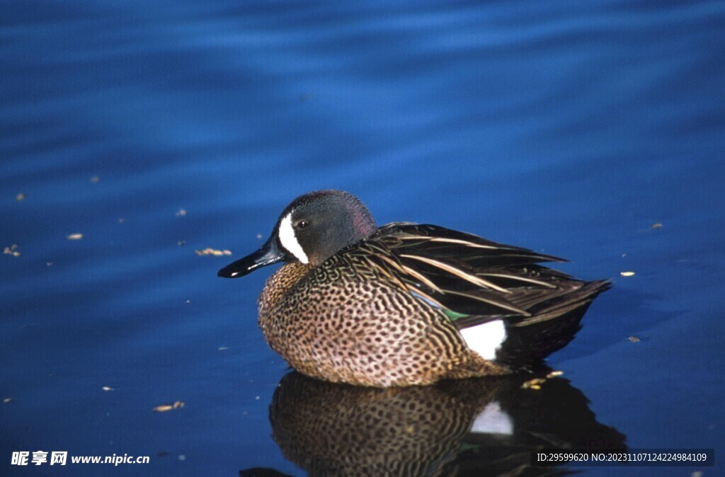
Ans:
{"label": "folded dark wing of the duck with buff-streaked feathers", "polygon": [[538,265],[566,260],[437,225],[384,225],[355,254],[400,288],[449,311],[460,328],[502,317],[523,322],[585,283]]}

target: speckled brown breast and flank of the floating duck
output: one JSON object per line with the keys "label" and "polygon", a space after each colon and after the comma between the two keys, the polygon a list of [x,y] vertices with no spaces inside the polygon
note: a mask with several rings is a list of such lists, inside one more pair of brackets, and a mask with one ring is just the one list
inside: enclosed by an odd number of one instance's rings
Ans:
{"label": "speckled brown breast and flank of the floating duck", "polygon": [[363,386],[428,384],[508,372],[465,345],[444,313],[338,254],[283,265],[260,296],[270,347],[308,376]]}

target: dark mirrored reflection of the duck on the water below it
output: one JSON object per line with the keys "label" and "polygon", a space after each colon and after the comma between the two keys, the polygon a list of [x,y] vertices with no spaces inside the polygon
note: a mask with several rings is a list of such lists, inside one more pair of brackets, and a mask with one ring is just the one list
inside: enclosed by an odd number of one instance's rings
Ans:
{"label": "dark mirrored reflection of the duck on the water below it", "polygon": [[311,476],[551,476],[566,470],[531,467],[531,450],[625,447],[625,436],[598,423],[568,380],[522,388],[533,377],[373,389],[293,372],[270,405],[273,437]]}

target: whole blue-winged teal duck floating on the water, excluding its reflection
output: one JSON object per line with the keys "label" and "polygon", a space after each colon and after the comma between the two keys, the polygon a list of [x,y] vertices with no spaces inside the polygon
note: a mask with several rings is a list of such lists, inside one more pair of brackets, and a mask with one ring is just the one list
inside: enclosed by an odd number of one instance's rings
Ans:
{"label": "whole blue-winged teal duck floating on the water, excluding its reflection", "polygon": [[309,376],[363,386],[532,368],[571,341],[609,286],[537,265],[556,257],[469,233],[378,228],[343,191],[294,199],[268,241],[218,275],[282,260],[259,301],[270,347]]}

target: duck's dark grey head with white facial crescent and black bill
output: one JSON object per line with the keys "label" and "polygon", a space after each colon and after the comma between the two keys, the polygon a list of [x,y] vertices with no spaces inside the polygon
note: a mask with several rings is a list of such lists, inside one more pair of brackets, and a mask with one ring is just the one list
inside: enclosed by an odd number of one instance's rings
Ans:
{"label": "duck's dark grey head with white facial crescent and black bill", "polygon": [[352,194],[310,192],[283,210],[272,235],[257,252],[227,265],[217,275],[238,278],[281,261],[318,265],[376,230],[370,211]]}

